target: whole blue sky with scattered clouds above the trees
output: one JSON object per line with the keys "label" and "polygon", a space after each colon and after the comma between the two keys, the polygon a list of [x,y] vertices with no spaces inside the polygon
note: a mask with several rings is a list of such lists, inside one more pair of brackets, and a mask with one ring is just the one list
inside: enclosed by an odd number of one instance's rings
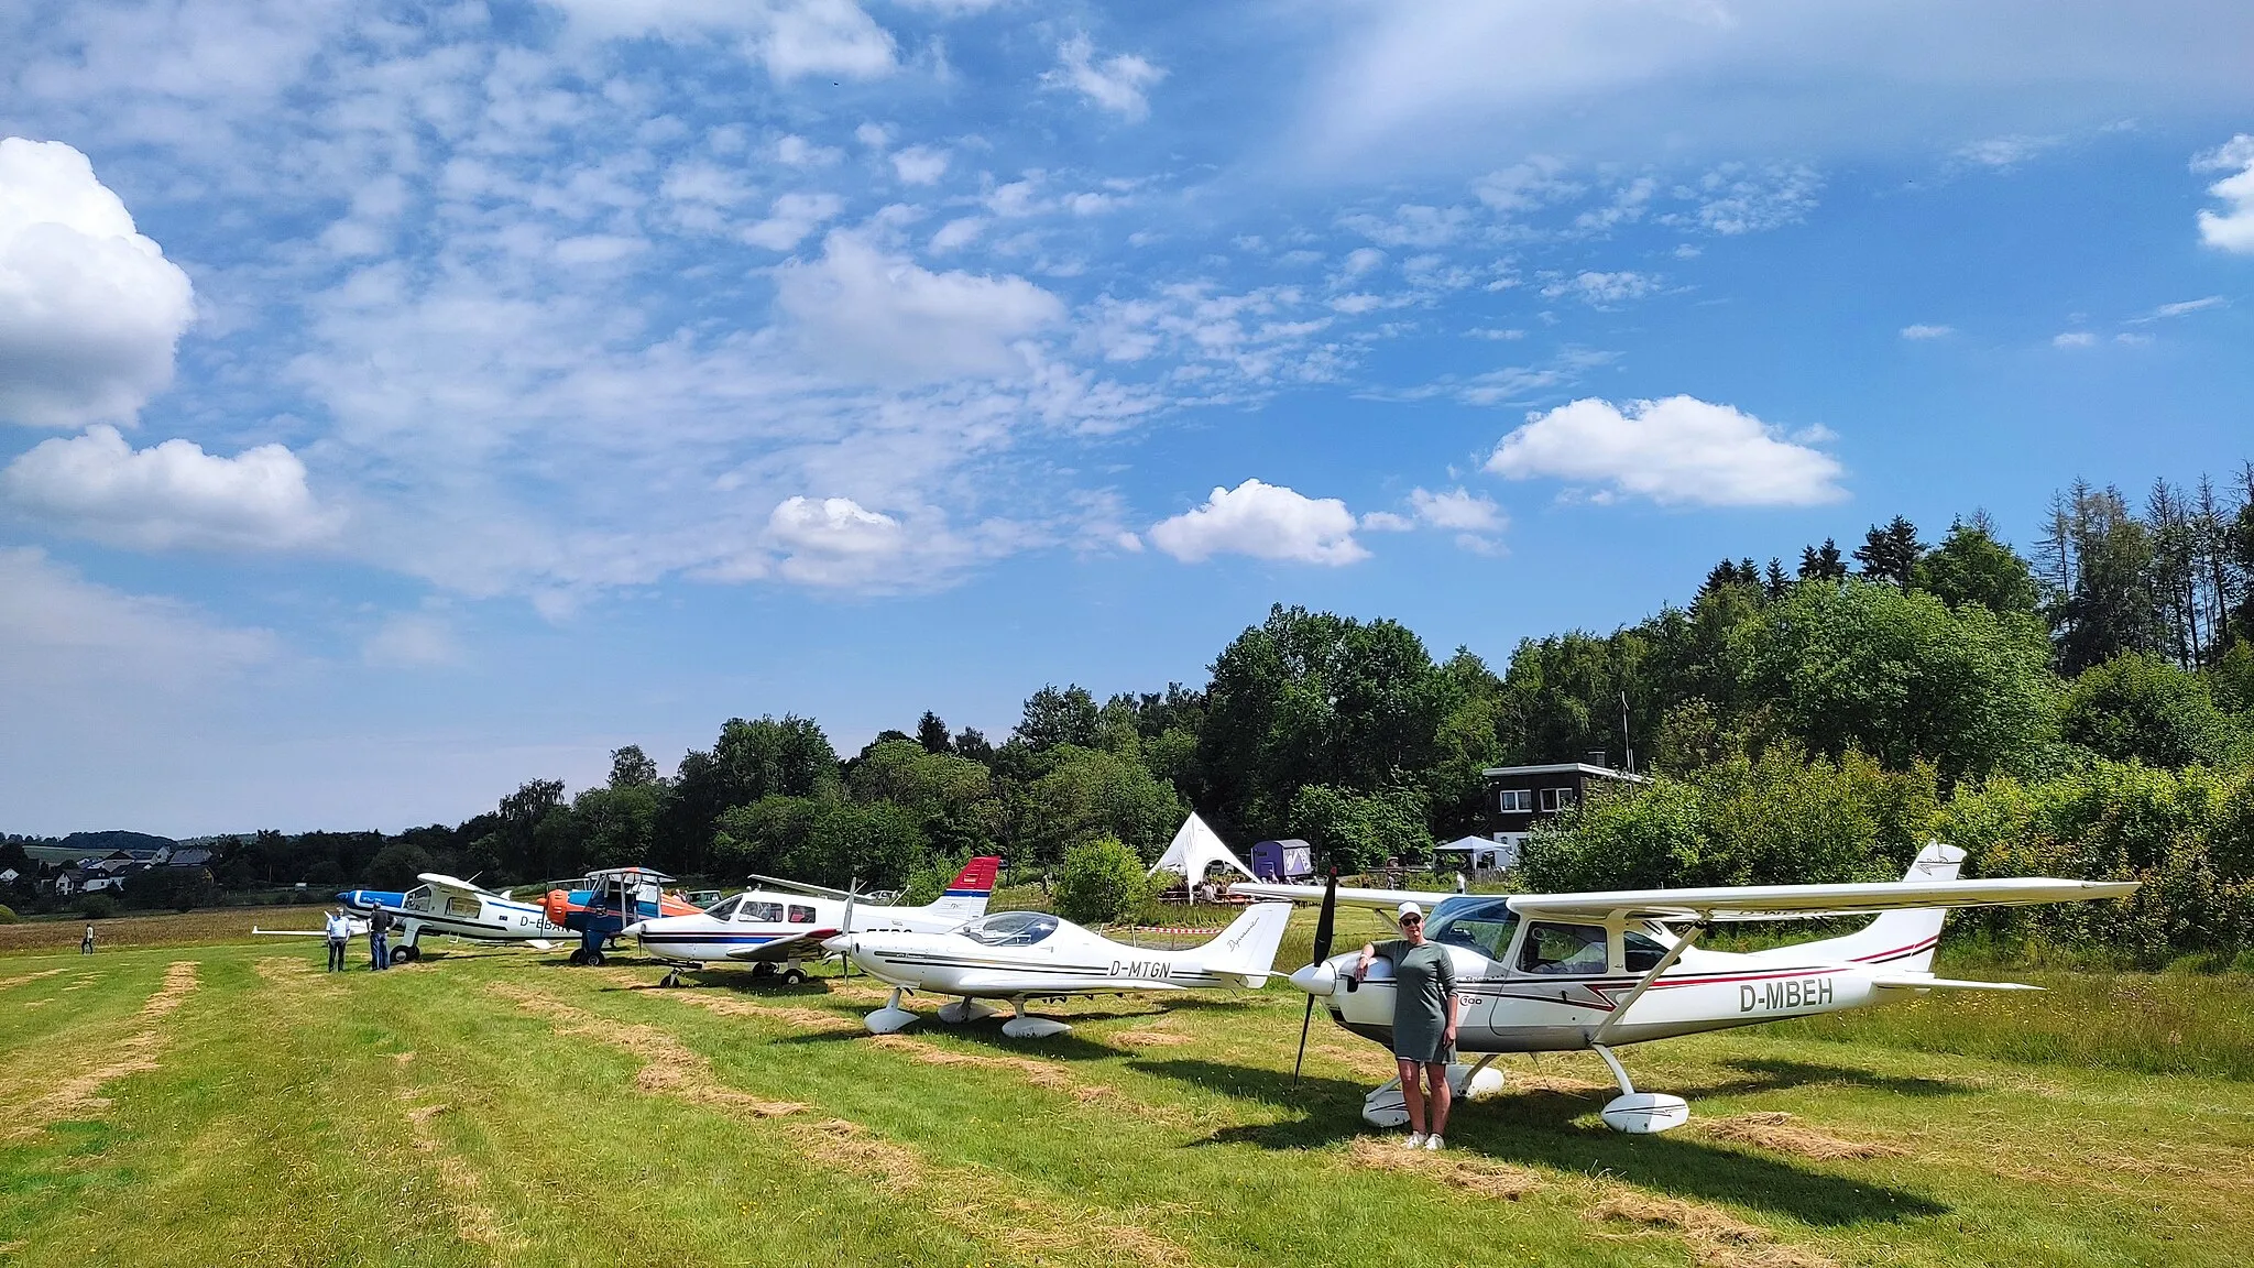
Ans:
{"label": "whole blue sky with scattered clouds above the trees", "polygon": [[2254,456],[2254,9],[0,16],[0,828],[1492,663]]}

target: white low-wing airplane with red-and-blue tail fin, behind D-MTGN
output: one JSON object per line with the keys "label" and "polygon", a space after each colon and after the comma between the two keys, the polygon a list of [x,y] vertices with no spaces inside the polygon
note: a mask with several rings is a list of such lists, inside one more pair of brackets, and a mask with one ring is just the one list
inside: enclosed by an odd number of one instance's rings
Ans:
{"label": "white low-wing airplane with red-and-blue tail fin, behind D-MTGN", "polygon": [[974,857],[924,907],[875,905],[843,889],[755,875],[778,889],[746,889],[692,916],[638,921],[624,934],[642,943],[642,954],[674,966],[663,986],[678,986],[683,968],[728,961],[751,963],[762,975],[780,963],[782,981],[796,986],[807,979],[798,961],[827,954],[823,941],[848,927],[940,934],[983,916],[999,873],[999,857]]}

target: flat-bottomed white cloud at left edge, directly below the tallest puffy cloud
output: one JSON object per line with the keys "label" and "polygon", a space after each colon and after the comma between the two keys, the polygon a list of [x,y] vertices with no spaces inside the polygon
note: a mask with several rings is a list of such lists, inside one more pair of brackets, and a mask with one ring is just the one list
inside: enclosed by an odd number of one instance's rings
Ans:
{"label": "flat-bottomed white cloud at left edge, directly below the tallest puffy cloud", "polygon": [[133,449],[117,429],[43,440],[0,472],[0,494],[61,532],[142,551],[291,551],[336,535],[304,463],[282,444],[234,458],[187,440]]}

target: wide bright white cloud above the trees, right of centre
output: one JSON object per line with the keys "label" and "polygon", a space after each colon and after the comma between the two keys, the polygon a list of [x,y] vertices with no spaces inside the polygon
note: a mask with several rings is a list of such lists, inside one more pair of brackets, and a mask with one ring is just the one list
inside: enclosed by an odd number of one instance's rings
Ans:
{"label": "wide bright white cloud above the trees, right of centre", "polygon": [[1494,447],[1485,469],[1512,481],[1551,476],[1605,485],[1598,499],[1817,505],[1846,496],[1839,460],[1830,454],[1794,444],[1733,406],[1695,397],[1627,402],[1625,408],[1580,399],[1528,415],[1526,426]]}

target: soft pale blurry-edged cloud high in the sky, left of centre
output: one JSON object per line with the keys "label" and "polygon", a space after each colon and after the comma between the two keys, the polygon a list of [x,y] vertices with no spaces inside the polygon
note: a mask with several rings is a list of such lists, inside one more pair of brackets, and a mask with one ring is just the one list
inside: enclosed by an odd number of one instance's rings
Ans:
{"label": "soft pale blurry-edged cloud high in the sky, left of centre", "polygon": [[1023,278],[933,273],[843,230],[820,259],[784,264],[775,287],[811,359],[893,384],[1021,372],[1012,345],[1064,320],[1064,302]]}

